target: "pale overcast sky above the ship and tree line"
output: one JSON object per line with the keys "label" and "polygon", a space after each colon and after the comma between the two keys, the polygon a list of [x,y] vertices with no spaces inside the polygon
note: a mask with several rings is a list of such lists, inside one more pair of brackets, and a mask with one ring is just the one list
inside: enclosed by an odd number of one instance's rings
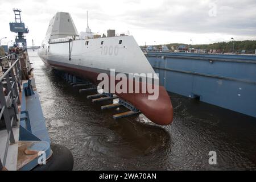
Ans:
{"label": "pale overcast sky above the ship and tree line", "polygon": [[31,39],[40,46],[57,11],[71,13],[77,30],[85,31],[86,10],[92,32],[129,32],[139,45],[208,44],[228,42],[232,37],[256,40],[255,0],[0,0],[0,37],[7,36],[2,44],[14,40],[9,28],[9,22],[14,22],[13,8],[22,10],[22,20],[30,30],[28,46]]}

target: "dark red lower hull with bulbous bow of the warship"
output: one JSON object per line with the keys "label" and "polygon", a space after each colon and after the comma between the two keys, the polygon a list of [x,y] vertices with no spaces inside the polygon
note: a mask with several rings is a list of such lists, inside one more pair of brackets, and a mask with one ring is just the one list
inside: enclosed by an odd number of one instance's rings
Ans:
{"label": "dark red lower hull with bulbous bow of the warship", "polygon": [[[98,84],[100,81],[97,80],[98,75],[102,72],[97,69],[91,68],[73,68],[72,65],[61,65],[55,61],[43,60],[44,63],[53,67],[57,70],[68,72],[72,75],[79,76],[81,78],[88,79],[94,84]],[[117,84],[119,81],[115,81]],[[129,82],[127,80],[127,82]],[[135,82],[133,81],[135,85]],[[142,83],[140,82],[140,85]],[[133,86],[134,88],[134,86]],[[140,86],[140,88],[142,88]],[[141,91],[141,90],[140,90]],[[139,109],[150,121],[158,125],[170,125],[173,119],[173,107],[171,104],[170,96],[166,92],[163,86],[159,86],[159,96],[156,100],[148,100],[148,93],[115,93],[117,96],[133,104]]]}

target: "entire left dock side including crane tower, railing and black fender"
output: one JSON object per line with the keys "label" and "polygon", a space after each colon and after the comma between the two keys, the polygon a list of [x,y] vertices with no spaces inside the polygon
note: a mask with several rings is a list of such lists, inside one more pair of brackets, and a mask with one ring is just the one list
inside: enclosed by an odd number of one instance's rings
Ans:
{"label": "entire left dock side including crane tower, railing and black fender", "polygon": [[[21,10],[13,11],[15,23],[9,24],[10,30],[18,33],[15,43],[22,44],[22,49],[14,48],[15,53],[0,51],[0,171],[72,170],[71,152],[49,140],[26,50],[24,34],[29,31],[22,22]],[[53,153],[59,159],[51,158]]]}

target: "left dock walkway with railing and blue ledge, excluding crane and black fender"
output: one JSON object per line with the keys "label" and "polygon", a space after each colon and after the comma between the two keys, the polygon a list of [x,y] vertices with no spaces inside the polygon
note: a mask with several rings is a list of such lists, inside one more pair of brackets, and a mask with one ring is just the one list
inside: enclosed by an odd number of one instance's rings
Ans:
{"label": "left dock walkway with railing and blue ledge, excluding crane and black fender", "polygon": [[[1,57],[2,75],[0,77],[0,166],[8,170],[30,170],[38,166],[38,152],[52,155],[39,96],[32,89],[32,77],[22,80],[21,58],[27,57],[26,52],[20,55]],[[44,120],[43,120],[44,121]],[[24,151],[34,151],[34,155]],[[13,160],[17,159],[17,160]],[[1,168],[2,169],[2,168]]]}

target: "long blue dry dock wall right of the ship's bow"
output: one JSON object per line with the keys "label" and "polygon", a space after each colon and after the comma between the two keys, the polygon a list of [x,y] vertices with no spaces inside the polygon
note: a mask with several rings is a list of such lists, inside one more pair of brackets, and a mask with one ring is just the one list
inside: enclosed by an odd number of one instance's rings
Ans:
{"label": "long blue dry dock wall right of the ship's bow", "polygon": [[256,56],[153,53],[167,91],[256,117]]}

